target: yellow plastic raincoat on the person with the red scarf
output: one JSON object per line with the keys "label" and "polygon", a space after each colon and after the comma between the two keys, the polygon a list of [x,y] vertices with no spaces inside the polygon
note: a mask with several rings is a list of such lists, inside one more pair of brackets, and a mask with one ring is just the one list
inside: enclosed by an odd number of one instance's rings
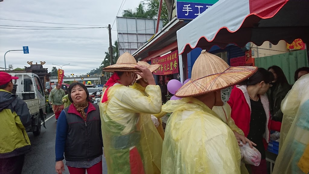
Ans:
{"label": "yellow plastic raincoat on the person with the red scarf", "polygon": [[153,122],[151,119],[145,120],[142,114],[161,111],[160,87],[148,85],[145,93],[147,96],[136,89],[115,84],[108,89],[108,101],[100,103],[104,154],[109,174],[143,173],[142,170],[145,174],[160,173],[161,167],[153,159],[158,159],[161,154],[152,156],[151,153],[160,149],[154,146],[157,142],[152,142],[153,129],[148,128]]}

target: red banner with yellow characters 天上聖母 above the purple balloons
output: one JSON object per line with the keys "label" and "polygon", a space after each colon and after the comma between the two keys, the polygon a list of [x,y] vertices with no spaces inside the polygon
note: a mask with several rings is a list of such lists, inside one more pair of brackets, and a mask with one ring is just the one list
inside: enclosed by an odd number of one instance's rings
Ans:
{"label": "red banner with yellow characters \u5929\u4e0a\u8056\u6bcd above the purple balloons", "polygon": [[155,75],[168,75],[179,72],[179,59],[178,50],[166,54],[162,57],[156,57],[151,59],[151,64],[160,64],[161,67],[153,74]]}

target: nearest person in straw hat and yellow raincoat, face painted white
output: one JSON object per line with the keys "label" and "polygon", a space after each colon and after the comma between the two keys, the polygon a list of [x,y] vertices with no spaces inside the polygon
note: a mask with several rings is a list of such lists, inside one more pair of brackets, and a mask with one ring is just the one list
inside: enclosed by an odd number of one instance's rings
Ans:
{"label": "nearest person in straw hat and yellow raincoat, face painted white", "polygon": [[231,86],[247,79],[256,67],[230,67],[203,50],[192,68],[191,80],[162,106],[172,112],[163,141],[161,173],[239,174],[241,154],[235,134],[212,111],[223,106]]}

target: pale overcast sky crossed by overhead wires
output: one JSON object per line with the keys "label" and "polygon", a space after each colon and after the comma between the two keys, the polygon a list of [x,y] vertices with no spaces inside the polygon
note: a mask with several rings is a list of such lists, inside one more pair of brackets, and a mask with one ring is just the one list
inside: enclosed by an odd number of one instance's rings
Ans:
{"label": "pale overcast sky crossed by overhead wires", "polygon": [[[121,2],[122,0],[4,0],[0,2],[0,18],[107,26],[113,24]],[[138,6],[139,2],[140,0],[125,0],[122,11]],[[10,20],[0,20],[0,25],[87,27]],[[116,29],[115,22],[112,30]],[[112,42],[116,39],[117,33],[112,31]],[[21,50],[23,46],[29,46],[30,54],[23,54],[22,51],[7,53],[6,67],[12,64],[14,68],[23,68],[29,66],[27,61],[38,64],[40,61],[45,61],[46,64],[43,67],[51,71],[54,66],[52,64],[70,63],[62,68],[66,74],[86,74],[99,67],[105,57],[104,52],[108,51],[108,29],[24,30],[0,28],[0,67],[4,67],[3,55],[6,51]]]}

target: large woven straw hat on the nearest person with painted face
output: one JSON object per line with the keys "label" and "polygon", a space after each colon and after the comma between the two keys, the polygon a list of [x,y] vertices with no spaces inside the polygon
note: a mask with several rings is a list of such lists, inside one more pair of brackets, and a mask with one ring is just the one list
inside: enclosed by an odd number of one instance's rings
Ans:
{"label": "large woven straw hat on the nearest person with painted face", "polygon": [[176,97],[190,97],[224,89],[248,79],[257,67],[230,67],[220,57],[202,50],[192,67],[191,80],[184,84]]}

